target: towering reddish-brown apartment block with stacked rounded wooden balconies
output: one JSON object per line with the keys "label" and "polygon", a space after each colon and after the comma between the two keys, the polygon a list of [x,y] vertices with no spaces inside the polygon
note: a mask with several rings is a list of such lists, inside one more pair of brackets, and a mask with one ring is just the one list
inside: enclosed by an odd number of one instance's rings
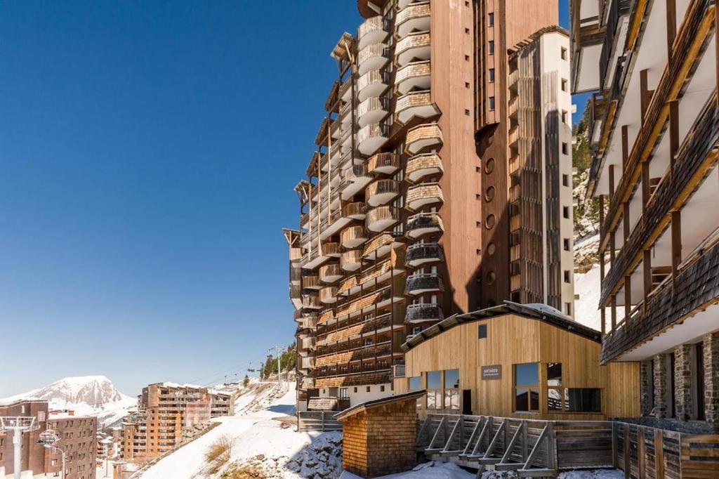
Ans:
{"label": "towering reddish-brown apartment block with stacked rounded wooden balconies", "polygon": [[557,2],[357,4],[284,230],[300,409],[389,395],[400,345],[451,314],[573,313],[568,35],[516,53]]}

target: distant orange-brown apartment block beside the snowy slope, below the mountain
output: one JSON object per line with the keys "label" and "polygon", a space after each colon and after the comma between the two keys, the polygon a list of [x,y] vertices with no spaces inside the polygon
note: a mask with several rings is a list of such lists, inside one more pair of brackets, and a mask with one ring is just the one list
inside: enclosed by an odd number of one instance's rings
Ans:
{"label": "distant orange-brown apartment block beside the snowy slope, below the mountain", "polygon": [[210,388],[155,383],[142,389],[138,411],[122,421],[125,460],[146,460],[172,450],[183,433],[219,416],[232,416],[230,394]]}

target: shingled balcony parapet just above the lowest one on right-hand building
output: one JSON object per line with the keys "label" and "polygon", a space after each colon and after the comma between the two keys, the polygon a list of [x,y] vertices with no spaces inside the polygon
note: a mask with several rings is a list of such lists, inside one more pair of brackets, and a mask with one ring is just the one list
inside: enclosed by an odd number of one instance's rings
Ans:
{"label": "shingled balcony parapet just above the lowest one on right-hand building", "polygon": [[[692,133],[674,160],[673,171],[667,173],[644,207],[641,221],[615,257],[602,285],[600,305],[606,305],[618,290],[627,271],[636,268],[642,250],[649,247],[669,224],[671,212],[679,209],[693,189],[717,162],[719,142],[719,111],[716,93],[710,97],[692,128]],[[605,233],[605,236],[609,236]]]}

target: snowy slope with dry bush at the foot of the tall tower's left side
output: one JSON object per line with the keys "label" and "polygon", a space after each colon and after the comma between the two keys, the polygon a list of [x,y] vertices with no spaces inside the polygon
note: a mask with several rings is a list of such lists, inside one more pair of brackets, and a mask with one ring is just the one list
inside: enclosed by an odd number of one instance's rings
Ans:
{"label": "snowy slope with dry bush at the foot of the tall tower's left side", "polygon": [[[265,477],[283,479],[339,475],[342,434],[298,433],[273,419],[294,414],[294,383],[285,383],[280,390],[276,383],[255,382],[246,389],[237,399],[235,416],[213,419],[219,426],[162,458],[139,477],[219,478],[233,470],[252,470]],[[212,473],[205,453],[222,437],[231,439],[232,450],[226,464],[215,467]]]}

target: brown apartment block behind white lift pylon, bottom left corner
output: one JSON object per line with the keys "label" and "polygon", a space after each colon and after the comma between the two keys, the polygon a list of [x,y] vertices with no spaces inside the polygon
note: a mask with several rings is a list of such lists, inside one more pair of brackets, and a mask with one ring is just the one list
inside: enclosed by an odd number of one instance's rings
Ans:
{"label": "brown apartment block behind white lift pylon, bottom left corner", "polygon": [[[75,416],[72,411],[52,414],[47,401],[17,401],[0,405],[0,416],[35,416],[40,429],[22,434],[22,471],[36,477],[60,477],[62,458],[37,444],[40,433],[52,430],[58,447],[65,450],[65,478],[95,479],[97,419]],[[0,434],[0,477],[14,473],[12,434]],[[32,477],[32,476],[31,476]]]}

